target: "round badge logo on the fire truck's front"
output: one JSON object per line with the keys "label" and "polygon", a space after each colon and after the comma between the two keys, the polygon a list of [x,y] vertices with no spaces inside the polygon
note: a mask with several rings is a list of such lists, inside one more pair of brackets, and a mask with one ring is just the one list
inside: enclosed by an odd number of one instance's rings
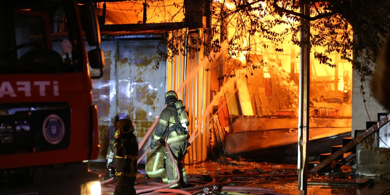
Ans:
{"label": "round badge logo on the fire truck's front", "polygon": [[64,121],[56,115],[48,115],[43,122],[43,136],[50,144],[58,144],[65,135]]}

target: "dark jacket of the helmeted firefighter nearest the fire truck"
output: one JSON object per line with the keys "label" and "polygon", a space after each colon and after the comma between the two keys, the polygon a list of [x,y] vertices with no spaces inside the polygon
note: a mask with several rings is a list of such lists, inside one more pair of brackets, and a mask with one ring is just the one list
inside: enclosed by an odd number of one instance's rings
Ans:
{"label": "dark jacket of the helmeted firefighter nearest the fire truck", "polygon": [[115,176],[137,176],[138,142],[133,133],[129,138],[115,138]]}

